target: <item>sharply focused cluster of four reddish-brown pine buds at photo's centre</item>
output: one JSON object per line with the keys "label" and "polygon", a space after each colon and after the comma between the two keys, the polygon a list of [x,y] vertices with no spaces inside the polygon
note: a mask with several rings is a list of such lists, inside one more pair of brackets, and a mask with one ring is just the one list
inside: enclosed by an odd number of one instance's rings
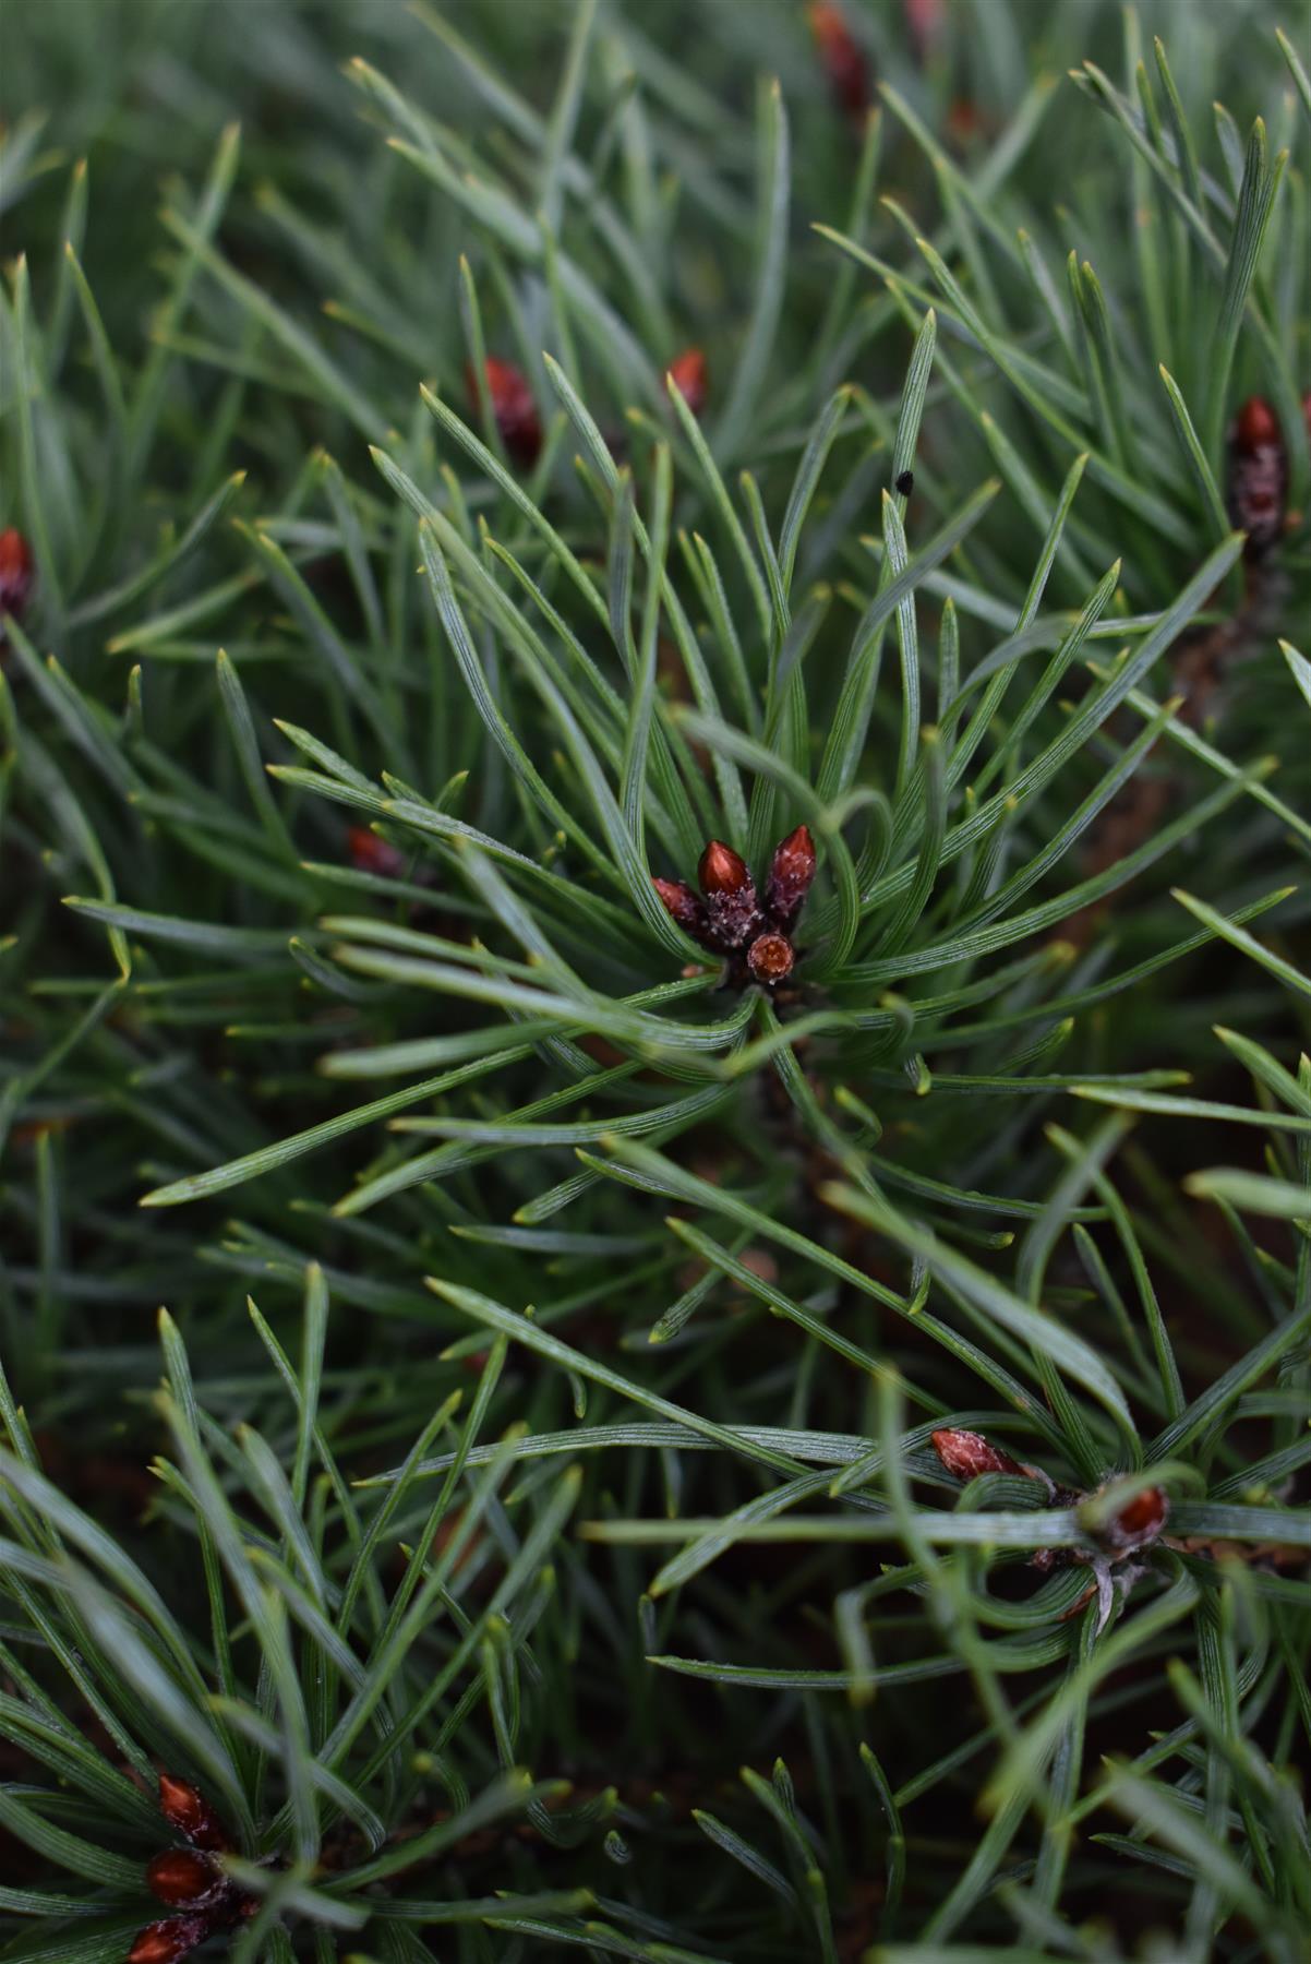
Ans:
{"label": "sharply focused cluster of four reddish-brown pine buds at photo's centre", "polygon": [[777,988],[797,964],[793,927],[814,878],[814,841],[805,825],[789,833],[769,860],[765,898],[760,900],[746,860],[712,839],[697,868],[701,894],[683,880],[654,880],[679,927],[712,955],[728,956],[736,988],[758,982]]}

